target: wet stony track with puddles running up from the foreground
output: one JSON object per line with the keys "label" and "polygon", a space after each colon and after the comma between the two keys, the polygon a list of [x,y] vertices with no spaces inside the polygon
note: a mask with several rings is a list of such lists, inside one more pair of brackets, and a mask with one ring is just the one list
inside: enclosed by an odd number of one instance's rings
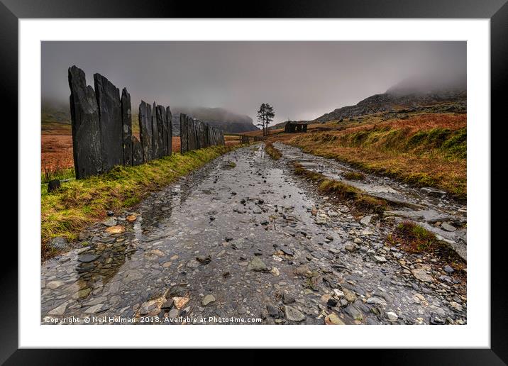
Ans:
{"label": "wet stony track with puddles running up from the foreground", "polygon": [[84,231],[42,266],[41,322],[466,322],[465,282],[385,247],[380,221],[317,194],[288,151],[235,150]]}

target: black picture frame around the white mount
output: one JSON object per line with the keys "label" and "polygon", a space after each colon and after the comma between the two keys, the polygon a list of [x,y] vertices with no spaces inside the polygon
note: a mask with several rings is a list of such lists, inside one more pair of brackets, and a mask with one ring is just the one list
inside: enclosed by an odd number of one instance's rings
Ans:
{"label": "black picture frame around the white mount", "polygon": [[[491,35],[491,120],[502,123],[504,93],[508,79],[508,0],[356,0],[356,1],[255,1],[248,10],[238,2],[174,0],[1,0],[1,94],[9,105],[11,121],[17,121],[18,105],[18,19],[19,18],[489,18]],[[114,37],[112,37],[114,38]],[[502,118],[502,116],[504,118]],[[488,123],[488,121],[473,121]],[[490,124],[492,130],[492,123]],[[14,132],[16,133],[16,131]],[[16,135],[18,135],[16,133]],[[492,138],[496,138],[491,133]],[[18,136],[19,138],[19,136]],[[497,135],[502,138],[502,135]],[[503,145],[500,143],[499,145]],[[492,140],[492,146],[495,146]],[[495,154],[491,150],[492,157]],[[496,165],[492,162],[491,167]],[[499,184],[491,175],[491,192]],[[23,192],[18,192],[18,196]],[[497,203],[498,205],[501,202]],[[499,216],[497,216],[499,217]],[[501,226],[492,216],[491,227]],[[504,217],[503,217],[504,218]],[[506,365],[508,362],[508,311],[504,282],[505,241],[482,243],[491,249],[491,348],[449,350],[361,350],[363,362],[392,365]],[[7,247],[7,248],[6,248]],[[12,253],[5,253],[7,250]],[[4,245],[10,259],[2,265],[0,362],[5,365],[80,365],[107,362],[104,350],[18,349],[18,258],[16,248]],[[37,301],[34,300],[34,304]],[[35,311],[36,306],[34,306]],[[347,353],[346,353],[347,352]],[[341,359],[359,350],[341,351]],[[101,354],[101,355],[99,355]],[[152,353],[168,357],[167,353]],[[116,352],[116,362],[131,357],[131,351]],[[170,358],[166,358],[170,360]],[[153,362],[153,361],[152,361]]]}

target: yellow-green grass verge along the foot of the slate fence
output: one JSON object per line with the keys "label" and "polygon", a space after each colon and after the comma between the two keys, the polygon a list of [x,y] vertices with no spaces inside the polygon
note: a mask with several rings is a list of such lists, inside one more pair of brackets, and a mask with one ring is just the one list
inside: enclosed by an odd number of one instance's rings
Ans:
{"label": "yellow-green grass verge along the foot of the slate fence", "polygon": [[137,167],[115,167],[99,177],[62,183],[57,192],[48,193],[41,185],[42,257],[51,253],[48,242],[57,236],[73,241],[83,228],[106,217],[106,211],[138,204],[148,192],[161,189],[192,170],[236,146],[213,146],[181,155],[162,157]]}

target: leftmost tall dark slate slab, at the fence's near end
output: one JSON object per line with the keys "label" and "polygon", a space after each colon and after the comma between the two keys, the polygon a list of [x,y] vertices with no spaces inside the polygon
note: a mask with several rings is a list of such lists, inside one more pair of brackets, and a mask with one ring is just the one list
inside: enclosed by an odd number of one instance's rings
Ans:
{"label": "leftmost tall dark slate slab, at the fence's near end", "polygon": [[83,70],[69,67],[68,78],[74,170],[76,178],[82,179],[103,172],[99,107]]}

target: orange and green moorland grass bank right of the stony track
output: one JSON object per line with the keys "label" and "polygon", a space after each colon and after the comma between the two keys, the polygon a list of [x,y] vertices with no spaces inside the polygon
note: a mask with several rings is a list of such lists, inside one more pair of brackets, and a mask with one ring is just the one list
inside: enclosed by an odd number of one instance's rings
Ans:
{"label": "orange and green moorland grass bank right of the stony track", "polygon": [[466,198],[466,116],[424,114],[342,131],[281,134],[273,139],[418,187]]}

